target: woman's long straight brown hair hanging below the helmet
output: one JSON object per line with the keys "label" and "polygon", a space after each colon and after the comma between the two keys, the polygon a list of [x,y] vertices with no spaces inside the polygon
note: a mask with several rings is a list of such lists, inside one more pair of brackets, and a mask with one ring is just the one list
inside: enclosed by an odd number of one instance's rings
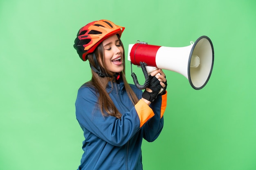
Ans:
{"label": "woman's long straight brown hair hanging below the helmet", "polygon": [[[119,38],[119,37],[118,37]],[[120,40],[120,44],[122,48],[124,49],[124,45]],[[94,54],[93,54],[94,53]],[[97,68],[97,65],[100,66],[101,72],[104,75],[111,75],[111,73],[105,69],[105,62],[104,62],[104,48],[102,43],[97,46],[97,48],[94,50],[94,52],[91,54],[88,54],[88,60],[90,64],[94,67]],[[94,55],[96,56],[97,63],[95,62]],[[100,61],[99,61],[100,60]],[[98,63],[102,63],[98,64]],[[124,87],[125,90],[133,103],[135,105],[139,100],[133,90],[131,89],[130,85],[127,83],[126,76],[125,76],[125,55],[123,53],[123,65],[124,65],[124,70],[121,72],[121,77],[123,78],[124,81]],[[108,92],[106,91],[106,87],[108,85],[108,82],[113,82],[115,80],[114,75],[112,77],[100,77],[96,72],[92,70],[92,79],[87,82],[86,84],[94,87],[97,90],[98,96],[98,106],[101,109],[101,113],[103,116],[114,116],[119,119],[121,119],[121,113],[117,110],[117,107],[115,107],[114,102],[111,100]]]}

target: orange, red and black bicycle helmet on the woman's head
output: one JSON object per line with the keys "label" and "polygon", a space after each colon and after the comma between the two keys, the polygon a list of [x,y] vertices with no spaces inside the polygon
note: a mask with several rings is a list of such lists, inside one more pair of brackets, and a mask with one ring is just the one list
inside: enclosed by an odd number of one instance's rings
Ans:
{"label": "orange, red and black bicycle helmet on the woman's head", "polygon": [[83,60],[87,60],[87,54],[92,53],[95,48],[105,39],[118,34],[121,37],[125,27],[115,25],[109,20],[90,22],[83,26],[77,33],[74,48]]}

